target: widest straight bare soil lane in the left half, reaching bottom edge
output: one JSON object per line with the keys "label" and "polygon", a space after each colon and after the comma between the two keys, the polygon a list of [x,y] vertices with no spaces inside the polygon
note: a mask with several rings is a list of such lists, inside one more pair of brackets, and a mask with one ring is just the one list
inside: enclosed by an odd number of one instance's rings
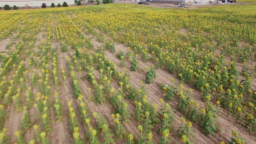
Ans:
{"label": "widest straight bare soil lane in the left half, reaching bottom edge", "polygon": [[[78,110],[78,100],[76,100],[72,93],[72,86],[71,86],[71,78],[69,77],[69,70],[66,67],[66,53],[59,52],[59,49],[56,49],[57,52],[57,60],[59,62],[59,74],[61,75],[61,67],[65,70],[67,77],[66,80],[60,81],[59,85],[59,101],[62,103],[62,121],[59,123],[54,124],[53,130],[51,132],[52,141],[55,144],[72,144],[73,143],[73,137],[72,133],[69,132],[69,107],[68,102],[73,101],[72,107],[74,108],[75,114],[79,115]],[[83,128],[83,125],[79,121],[79,117],[76,117],[78,121],[79,126],[79,134],[80,136],[85,135],[85,130]],[[81,138],[84,140],[84,137]]]}

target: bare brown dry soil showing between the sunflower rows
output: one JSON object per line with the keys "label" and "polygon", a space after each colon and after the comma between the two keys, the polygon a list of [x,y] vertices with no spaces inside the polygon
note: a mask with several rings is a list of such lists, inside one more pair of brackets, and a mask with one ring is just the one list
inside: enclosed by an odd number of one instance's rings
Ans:
{"label": "bare brown dry soil showing between the sunflower rows", "polygon": [[[181,33],[187,34],[188,31],[186,29],[181,29]],[[109,38],[110,39],[110,38]],[[0,41],[0,52],[6,51],[5,46],[7,43],[10,42],[11,39],[5,39]],[[37,41],[40,42],[43,40],[42,33],[39,33],[37,36]],[[92,36],[92,43],[94,44],[95,49],[102,47],[103,43],[99,43],[95,37]],[[36,43],[35,46],[35,51],[37,52],[37,47],[39,43]],[[67,79],[63,80],[61,76],[59,76],[59,88],[54,89],[53,84],[51,83],[51,89],[52,89],[52,95],[54,92],[58,91],[59,92],[59,99],[60,102],[63,105],[63,119],[60,122],[55,121],[54,116],[53,116],[53,105],[50,105],[49,111],[50,111],[50,119],[51,119],[51,125],[52,125],[52,130],[48,135],[48,139],[51,143],[53,144],[72,144],[73,143],[73,138],[72,134],[69,132],[69,112],[68,112],[68,106],[67,103],[69,101],[73,101],[73,108],[76,113],[76,119],[79,121],[79,101],[76,100],[73,96],[73,91],[72,91],[72,86],[71,86],[71,78],[69,76],[69,71],[67,69],[66,65],[66,57],[67,56],[72,56],[72,49],[69,49],[69,52],[61,52],[60,51],[60,46],[58,44],[54,44],[53,47],[56,49],[58,57],[57,61],[59,62],[59,74],[61,73],[61,67],[64,68],[64,70],[67,73]],[[131,85],[135,86],[135,88],[139,88],[139,80],[142,80],[145,82],[145,77],[146,77],[146,72],[147,72],[147,67],[153,65],[151,62],[143,62],[141,59],[139,59],[139,69],[137,72],[131,72],[130,71],[130,66],[131,63],[128,60],[125,60],[125,67],[120,67],[120,60],[117,58],[117,54],[119,49],[121,49],[124,53],[126,53],[128,47],[120,44],[120,43],[115,43],[115,53],[111,53],[108,50],[105,51],[105,57],[108,57],[111,61],[115,62],[117,65],[117,70],[118,71],[125,71],[125,68],[129,70],[130,74],[130,83]],[[225,57],[225,60],[228,62],[229,58]],[[26,60],[26,63],[28,60]],[[238,70],[241,71],[243,69],[243,64],[240,62],[236,62]],[[253,65],[253,63],[251,63]],[[40,69],[36,69],[36,71],[39,71]],[[78,80],[79,80],[79,85],[82,89],[82,94],[84,95],[84,101],[87,101],[86,105],[88,108],[88,113],[91,118],[91,123],[92,126],[95,128],[96,120],[93,118],[92,113],[97,112],[98,114],[102,115],[105,120],[108,122],[109,127],[111,128],[111,125],[113,124],[113,120],[111,118],[111,114],[114,113],[114,109],[112,108],[112,105],[109,102],[106,102],[104,105],[99,105],[95,104],[95,102],[90,101],[89,99],[89,92],[87,91],[87,88],[91,87],[89,81],[86,79],[85,72],[76,72],[75,73]],[[31,72],[29,72],[29,75],[31,75]],[[163,69],[157,69],[156,70],[156,79],[154,79],[153,84],[146,85],[146,92],[148,96],[148,101],[153,105],[153,104],[158,104],[160,107],[163,107],[163,104],[159,102],[160,98],[164,98],[163,93],[161,92],[160,85],[161,84],[167,84],[167,85],[173,85],[173,83],[170,81],[170,78],[174,78],[175,82],[177,84],[180,84],[180,80],[177,79],[177,76],[174,74],[170,74]],[[99,72],[95,70],[95,76],[98,78]],[[28,86],[30,85],[29,83],[27,84]],[[118,82],[113,82],[112,87],[115,89],[118,88]],[[193,88],[191,85],[184,84],[184,87],[186,89]],[[194,88],[193,88],[194,89]],[[252,89],[256,90],[256,79],[253,79],[252,82]],[[33,94],[36,95],[36,92],[39,91],[39,88],[36,86],[33,88]],[[194,90],[193,92],[194,95],[194,100],[200,103],[200,106],[204,106],[205,104],[201,101],[201,93]],[[23,96],[23,99],[25,101],[25,96]],[[54,101],[54,97],[50,98],[51,101]],[[181,143],[180,140],[177,139],[177,133],[175,132],[179,125],[181,124],[180,118],[184,117],[188,120],[186,115],[183,115],[181,112],[177,110],[177,101],[174,98],[173,101],[164,101],[164,104],[169,103],[174,111],[175,118],[174,118],[174,126],[173,130],[174,132],[171,133],[171,141],[174,144],[179,144]],[[130,118],[129,118],[129,123],[126,123],[124,125],[125,127],[125,132],[127,133],[132,133],[135,136],[135,139],[138,139],[138,136],[140,132],[138,131],[138,124],[137,122],[134,121],[133,115],[134,115],[134,107],[133,107],[133,101],[131,100],[125,100],[125,102],[128,103],[129,106],[129,111],[130,111]],[[7,128],[7,136],[9,138],[10,144],[13,144],[16,142],[16,137],[14,136],[14,133],[16,131],[19,131],[21,128],[21,117],[22,117],[22,112],[17,112],[13,106],[10,106],[7,108],[7,121],[5,123],[5,128]],[[31,115],[31,121],[33,124],[39,124],[40,128],[40,121],[38,119],[39,115],[34,107],[29,108],[29,113]],[[241,137],[243,137],[246,140],[247,144],[255,144],[256,143],[256,137],[250,134],[245,128],[243,128],[240,124],[237,124],[236,121],[234,120],[233,116],[227,116],[227,111],[223,108],[220,108],[220,115],[217,118],[216,124],[218,128],[218,132],[214,134],[213,136],[210,135],[204,135],[201,131],[201,128],[197,124],[193,124],[192,130],[194,131],[194,141],[196,144],[219,144],[221,141],[230,141],[230,137],[232,137],[232,134],[230,131],[235,130],[239,133]],[[85,139],[85,133],[88,131],[88,128],[86,128],[80,121],[78,123],[79,125],[79,133],[80,137],[83,140]],[[161,139],[161,134],[158,134],[158,128],[154,128],[153,131],[154,137],[153,141],[155,143],[158,143],[159,140]],[[113,133],[113,131],[112,131]],[[31,139],[33,139],[35,135],[35,132],[31,128],[30,131],[25,132],[25,140],[28,142]],[[100,139],[101,137],[98,137],[99,141],[102,141]],[[124,143],[124,140],[116,140],[117,144],[122,144]]]}

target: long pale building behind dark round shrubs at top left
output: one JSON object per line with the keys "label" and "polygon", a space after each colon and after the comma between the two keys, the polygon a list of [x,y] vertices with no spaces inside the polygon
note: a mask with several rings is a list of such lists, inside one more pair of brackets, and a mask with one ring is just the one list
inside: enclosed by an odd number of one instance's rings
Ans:
{"label": "long pale building behind dark round shrubs at top left", "polygon": [[50,6],[54,3],[56,6],[58,3],[62,5],[63,2],[70,4],[75,4],[75,0],[0,0],[0,7],[8,4],[10,7],[14,5],[17,7],[40,7],[42,3],[46,3],[47,6]]}

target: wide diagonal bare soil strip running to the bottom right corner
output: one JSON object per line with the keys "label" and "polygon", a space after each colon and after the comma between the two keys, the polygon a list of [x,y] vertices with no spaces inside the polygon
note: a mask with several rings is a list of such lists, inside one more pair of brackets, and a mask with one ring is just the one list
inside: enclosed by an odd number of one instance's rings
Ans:
{"label": "wide diagonal bare soil strip running to the bottom right corner", "polygon": [[[116,47],[116,46],[121,46],[121,47]],[[114,54],[112,54],[111,52],[105,51],[105,55],[108,56],[108,58],[110,60],[114,61],[117,65],[119,65],[119,63],[120,63],[120,60],[116,58],[116,55],[118,54],[117,53],[118,48],[122,49],[122,51],[124,53],[127,51],[127,49],[125,49],[125,46],[123,46],[121,44],[118,44],[118,45],[116,44],[115,45],[116,52]],[[130,64],[130,62],[126,61],[125,62],[125,67],[129,69],[130,65],[128,65],[128,64]],[[141,59],[139,59],[139,70],[137,72],[130,72],[130,80],[135,79],[135,82],[131,82],[133,85],[135,85],[135,87],[138,88],[138,82],[137,82],[138,78],[141,79],[142,81],[144,81],[145,74],[147,72],[146,67],[150,66],[150,65],[152,65],[150,62],[142,62]],[[139,74],[141,72],[143,72],[144,74]],[[150,90],[152,90],[156,87],[159,88],[160,84],[169,84],[169,85],[171,85],[171,82],[169,80],[171,77],[173,77],[176,82],[179,82],[179,80],[177,79],[176,75],[164,72],[163,70],[160,70],[160,69],[156,69],[156,74],[157,74],[157,77],[156,77],[156,79],[154,79],[153,84],[155,85],[155,83],[157,83],[158,85],[157,86],[147,85],[147,94],[148,94],[148,98],[151,101],[158,102],[155,98],[155,95],[152,95],[152,94],[148,93],[148,91],[150,91]],[[169,79],[167,79],[167,77],[169,77]],[[184,84],[184,86],[186,88],[190,88],[187,84]],[[159,90],[156,90],[156,91],[159,91]],[[194,91],[195,91],[195,89],[194,89]],[[198,92],[198,91],[194,92],[194,91],[193,91],[193,95],[196,96],[194,98],[200,99],[200,95],[201,95],[200,92]],[[158,92],[158,95],[162,95],[162,93]],[[162,96],[161,98],[164,98],[164,97]],[[197,100],[197,102],[199,102],[200,105],[205,105],[201,100]],[[172,104],[172,105],[174,105],[174,104]],[[177,105],[177,103],[175,105]],[[181,114],[181,115],[183,115],[183,114]],[[210,136],[210,135],[205,136],[204,134],[202,134],[202,132],[200,131],[201,128],[199,128],[199,126],[198,126],[198,128],[197,128],[198,130],[194,129],[194,140],[196,141],[197,140],[196,137],[198,137],[200,139],[199,140],[200,143],[220,143],[220,141],[223,141],[223,140],[230,141],[230,137],[233,137],[230,132],[232,130],[235,130],[235,131],[239,131],[239,132],[243,131],[243,133],[240,133],[239,135],[242,136],[247,141],[247,143],[249,143],[251,141],[256,141],[255,137],[253,137],[252,134],[249,134],[248,132],[246,132],[242,126],[236,124],[235,122],[233,123],[235,125],[235,127],[231,126],[230,121],[233,121],[233,119],[232,118],[227,118],[227,117],[222,118],[221,116],[219,116],[216,119],[216,123],[221,125],[222,130],[219,133],[214,134],[214,136]],[[179,122],[179,120],[177,122]],[[216,135],[218,135],[218,136],[216,137]],[[209,140],[209,138],[210,138],[210,140]],[[199,142],[199,141],[197,141],[197,142]],[[249,144],[251,144],[251,143],[249,143]]]}

